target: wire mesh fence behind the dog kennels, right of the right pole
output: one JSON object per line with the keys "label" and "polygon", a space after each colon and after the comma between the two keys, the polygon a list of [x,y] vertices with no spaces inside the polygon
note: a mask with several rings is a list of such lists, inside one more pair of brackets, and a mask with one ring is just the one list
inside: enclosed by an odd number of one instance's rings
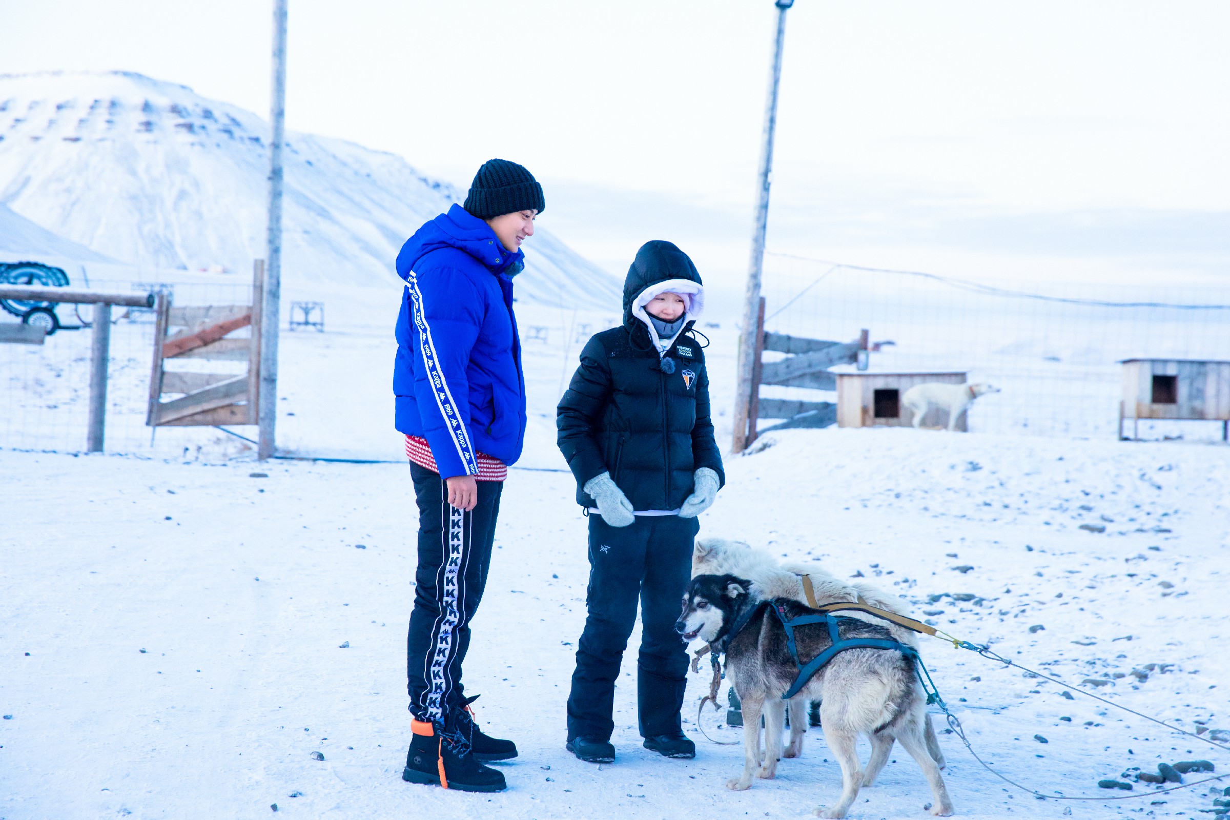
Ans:
{"label": "wire mesh fence behind the dog kennels, right of the right pole", "polygon": [[[993,286],[770,254],[763,293],[768,331],[849,342],[868,328],[873,371],[966,371],[999,387],[970,406],[972,432],[1113,438],[1122,360],[1230,359],[1230,288]],[[761,396],[836,401],[781,386]],[[1141,420],[1139,435],[1220,440],[1223,424]]]}

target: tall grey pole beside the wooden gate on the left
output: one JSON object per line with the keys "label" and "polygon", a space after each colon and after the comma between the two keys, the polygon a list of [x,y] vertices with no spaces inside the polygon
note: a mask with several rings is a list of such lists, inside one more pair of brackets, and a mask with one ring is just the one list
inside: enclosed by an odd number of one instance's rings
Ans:
{"label": "tall grey pole beside the wooden gate on the left", "polygon": [[282,316],[282,144],[287,118],[287,0],[273,0],[273,89],[269,101],[269,247],[261,307],[261,430],[257,457],[274,451],[278,420],[278,322]]}

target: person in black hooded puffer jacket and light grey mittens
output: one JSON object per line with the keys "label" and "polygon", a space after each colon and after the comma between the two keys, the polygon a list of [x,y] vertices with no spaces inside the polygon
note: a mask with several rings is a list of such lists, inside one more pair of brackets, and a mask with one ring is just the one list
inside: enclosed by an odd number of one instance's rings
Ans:
{"label": "person in black hooded puffer jacket and light grey mittens", "polygon": [[645,746],[692,757],[679,719],[688,653],[674,631],[696,516],[724,475],[713,440],[705,355],[690,333],[704,310],[696,266],[647,242],[624,284],[624,323],[595,334],[560,400],[560,450],[589,515],[589,616],[568,696],[568,749],[610,762],[615,679],[641,601],[637,707]]}

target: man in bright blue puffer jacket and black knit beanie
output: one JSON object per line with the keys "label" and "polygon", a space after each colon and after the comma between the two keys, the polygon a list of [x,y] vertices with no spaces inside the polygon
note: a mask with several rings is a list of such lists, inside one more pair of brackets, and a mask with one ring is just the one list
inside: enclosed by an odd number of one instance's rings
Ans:
{"label": "man in bright blue puffer jacket and black knit beanie", "polygon": [[517,756],[474,723],[461,661],[491,566],[499,494],[525,441],[525,377],[513,316],[522,240],[542,188],[520,165],[483,164],[464,205],[423,225],[397,254],[397,430],[418,503],[418,569],[406,644],[411,729],[402,778],[498,792],[481,761]]}

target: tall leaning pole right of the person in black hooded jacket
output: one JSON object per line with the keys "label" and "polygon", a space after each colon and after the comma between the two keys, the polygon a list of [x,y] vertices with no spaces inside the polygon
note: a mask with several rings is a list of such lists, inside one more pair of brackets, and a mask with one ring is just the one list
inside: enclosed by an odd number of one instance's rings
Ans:
{"label": "tall leaning pole right of the person in black hooded jacket", "polygon": [[[781,82],[781,49],[786,42],[786,10],[795,0],[776,0],[777,33],[769,75],[769,101],[765,106],[764,145],[760,148],[760,186],[755,226],[752,231],[752,261],[748,266],[748,288],[743,301],[743,332],[739,334],[738,373],[734,393],[734,441],[731,450],[743,452],[748,445],[748,418],[752,402],[752,379],[755,370],[756,333],[760,316],[760,274],[765,258],[765,226],[769,221],[769,181],[772,172],[772,140],[777,128],[777,86]],[[754,438],[754,436],[752,436]]]}

